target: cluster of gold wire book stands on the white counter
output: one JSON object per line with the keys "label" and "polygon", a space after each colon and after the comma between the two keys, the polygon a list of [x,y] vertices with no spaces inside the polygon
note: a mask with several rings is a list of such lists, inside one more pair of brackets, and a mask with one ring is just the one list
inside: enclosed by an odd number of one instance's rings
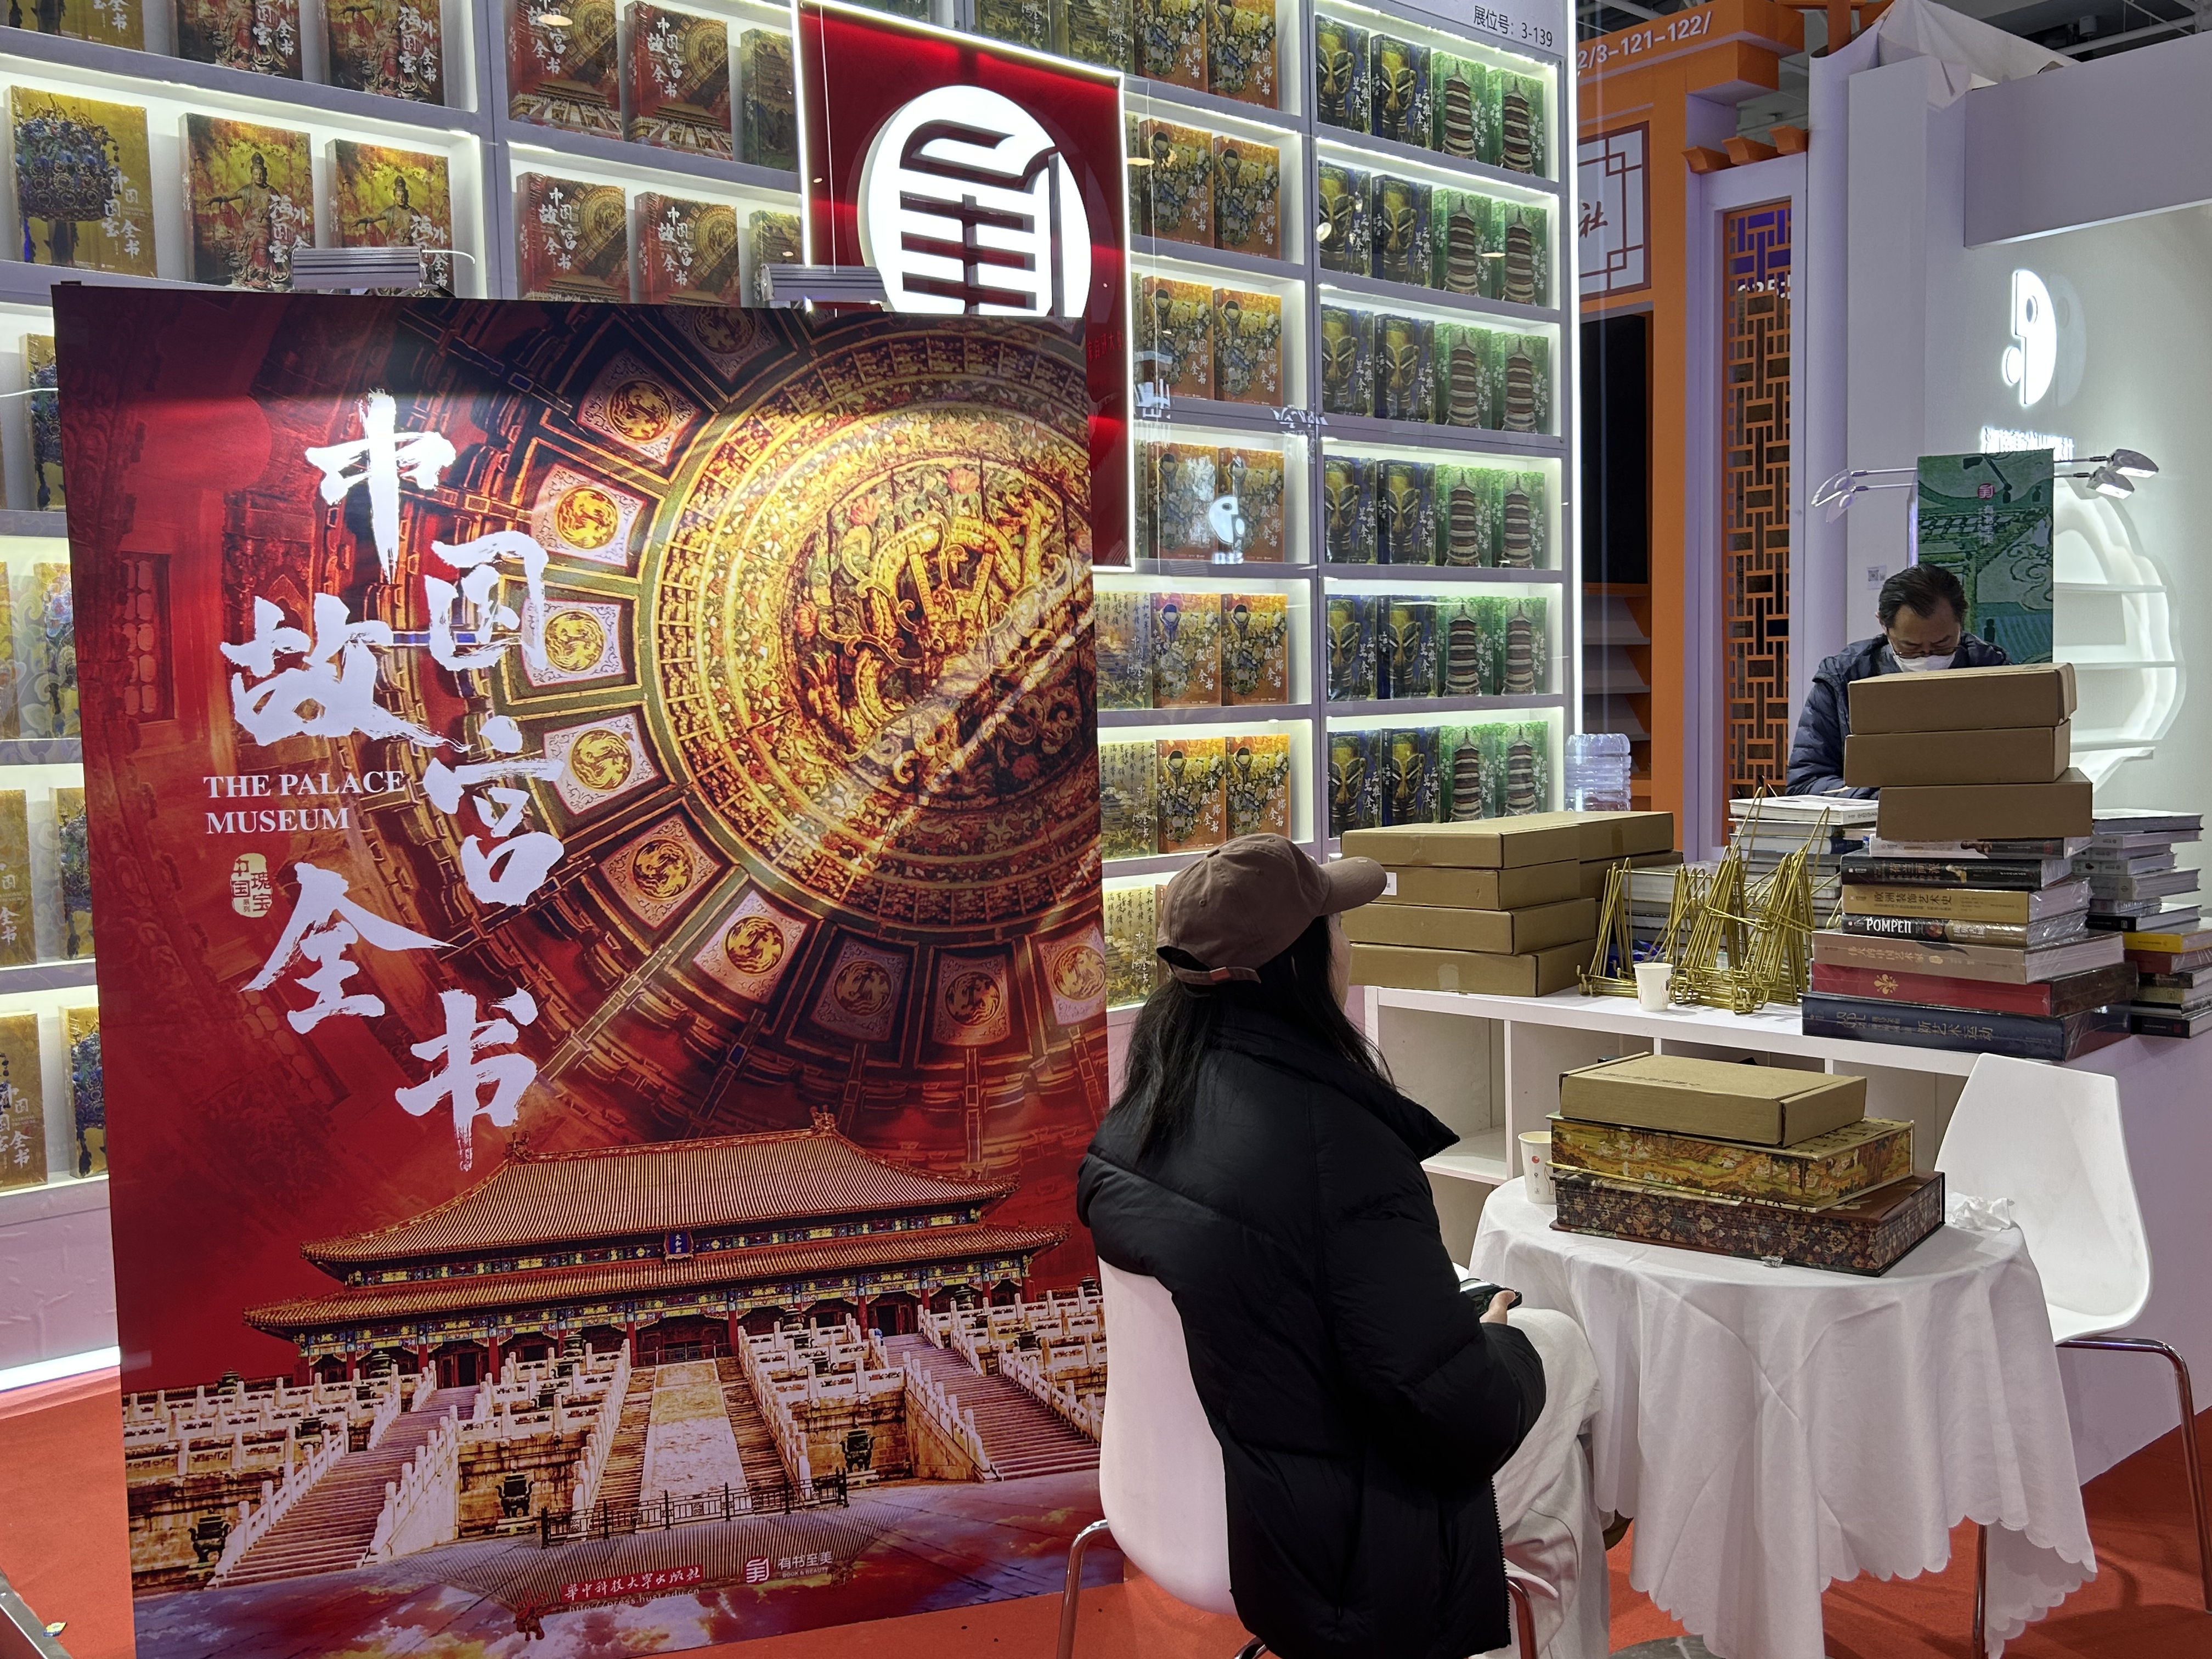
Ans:
{"label": "cluster of gold wire book stands on the white counter", "polygon": [[[1650,962],[1674,969],[1670,998],[1732,1013],[1754,1013],[1767,1002],[1796,1002],[1812,984],[1814,847],[1827,843],[1827,814],[1803,845],[1785,854],[1774,874],[1752,880],[1745,847],[1759,834],[1759,801],[1736,827],[1712,869],[1683,865]],[[1628,914],[1630,865],[1606,872],[1597,911],[1597,956],[1582,973],[1584,995],[1635,995],[1635,927]]]}

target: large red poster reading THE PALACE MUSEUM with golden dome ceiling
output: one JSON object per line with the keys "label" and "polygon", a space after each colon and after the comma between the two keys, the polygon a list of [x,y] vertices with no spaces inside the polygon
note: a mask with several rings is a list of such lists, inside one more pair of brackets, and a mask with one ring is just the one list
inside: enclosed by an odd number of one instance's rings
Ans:
{"label": "large red poster reading THE PALACE MUSEUM with golden dome ceiling", "polygon": [[1104,1391],[1079,347],[55,325],[139,1657],[1033,1593]]}

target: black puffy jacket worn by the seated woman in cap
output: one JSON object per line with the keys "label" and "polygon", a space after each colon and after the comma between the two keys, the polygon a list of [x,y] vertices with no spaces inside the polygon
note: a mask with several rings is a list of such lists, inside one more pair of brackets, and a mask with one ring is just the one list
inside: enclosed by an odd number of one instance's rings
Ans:
{"label": "black puffy jacket worn by the seated woman in cap", "polygon": [[1491,1473],[1544,1367],[1458,1290],[1420,1170],[1455,1135],[1252,1009],[1203,1066],[1192,1126],[1148,1157],[1137,1110],[1106,1117],[1075,1210],[1183,1316],[1237,1615],[1285,1659],[1502,1648]]}

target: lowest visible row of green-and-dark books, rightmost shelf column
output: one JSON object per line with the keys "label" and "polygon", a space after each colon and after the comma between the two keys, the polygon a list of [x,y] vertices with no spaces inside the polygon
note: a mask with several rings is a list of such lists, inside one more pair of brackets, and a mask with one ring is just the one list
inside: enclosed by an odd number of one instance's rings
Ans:
{"label": "lowest visible row of green-and-dark books, rightmost shelf column", "polygon": [[1551,801],[1551,726],[1329,730],[1329,834],[1520,818]]}

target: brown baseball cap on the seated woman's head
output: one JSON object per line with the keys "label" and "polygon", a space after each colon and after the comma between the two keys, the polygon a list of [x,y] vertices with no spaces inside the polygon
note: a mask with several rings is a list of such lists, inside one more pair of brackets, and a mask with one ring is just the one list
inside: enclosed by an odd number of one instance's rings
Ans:
{"label": "brown baseball cap on the seated woman's head", "polygon": [[1296,945],[1316,916],[1378,898],[1383,880],[1374,858],[1316,865],[1283,836],[1237,836],[1168,883],[1159,898],[1159,958],[1183,984],[1256,980],[1261,964]]}

